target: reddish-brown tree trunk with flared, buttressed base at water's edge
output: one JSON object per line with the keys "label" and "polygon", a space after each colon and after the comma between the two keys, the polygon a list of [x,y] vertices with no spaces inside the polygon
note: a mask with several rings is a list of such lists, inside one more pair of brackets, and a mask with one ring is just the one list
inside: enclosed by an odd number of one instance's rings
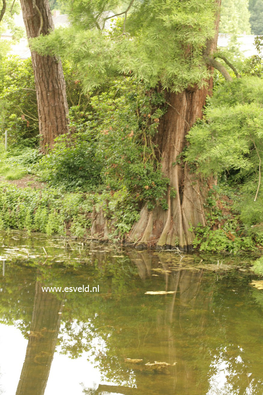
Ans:
{"label": "reddish-brown tree trunk with flared, buttressed base at water's edge", "polygon": [[[220,5],[220,0],[216,3]],[[216,50],[218,25],[219,12],[215,21],[215,36],[207,43],[205,57]],[[181,250],[190,250],[195,237],[190,227],[206,223],[201,180],[191,173],[180,155],[186,146],[186,134],[195,121],[203,116],[203,107],[207,96],[211,94],[212,83],[211,77],[206,87],[201,89],[190,87],[181,93],[165,92],[168,109],[160,120],[156,143],[161,152],[162,171],[170,179],[168,209],[164,211],[159,206],[148,211],[146,206],[143,207],[141,218],[129,235],[130,241],[137,243],[137,248],[155,244],[157,248],[179,246]]]}

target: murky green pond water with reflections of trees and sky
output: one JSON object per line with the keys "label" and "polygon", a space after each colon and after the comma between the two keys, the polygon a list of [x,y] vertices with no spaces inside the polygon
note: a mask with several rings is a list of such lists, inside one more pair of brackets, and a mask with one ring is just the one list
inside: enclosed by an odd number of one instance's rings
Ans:
{"label": "murky green pond water with reflections of trees and sky", "polygon": [[0,255],[0,394],[263,394],[249,260],[18,232]]}

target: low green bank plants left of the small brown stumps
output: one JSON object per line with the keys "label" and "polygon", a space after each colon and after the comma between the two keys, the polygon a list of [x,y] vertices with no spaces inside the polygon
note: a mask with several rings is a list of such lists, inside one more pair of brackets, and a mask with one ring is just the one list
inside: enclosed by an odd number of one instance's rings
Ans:
{"label": "low green bank plants left of the small brown stumps", "polygon": [[34,190],[0,184],[0,229],[26,229],[47,235],[66,235],[67,230],[83,236],[92,211],[83,194],[66,194],[53,188]]}

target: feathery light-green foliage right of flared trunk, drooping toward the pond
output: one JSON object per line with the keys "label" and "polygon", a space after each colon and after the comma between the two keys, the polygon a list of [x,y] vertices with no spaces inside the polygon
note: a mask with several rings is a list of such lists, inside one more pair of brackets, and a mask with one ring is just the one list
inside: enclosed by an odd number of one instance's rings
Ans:
{"label": "feathery light-green foliage right of flared trunk, drooping toward the pond", "polygon": [[[263,79],[242,77],[217,87],[202,121],[188,134],[186,159],[236,190],[246,235],[263,242]],[[261,174],[259,175],[259,171]],[[261,176],[261,177],[260,177]]]}

